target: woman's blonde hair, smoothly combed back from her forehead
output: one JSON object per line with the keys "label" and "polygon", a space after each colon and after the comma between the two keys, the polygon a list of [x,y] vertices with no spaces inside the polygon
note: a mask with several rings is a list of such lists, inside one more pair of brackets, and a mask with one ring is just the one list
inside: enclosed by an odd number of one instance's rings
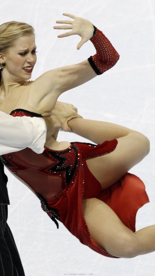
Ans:
{"label": "woman's blonde hair, smoothly combed back from her forehead", "polygon": [[21,36],[34,35],[34,28],[23,22],[10,21],[0,25],[0,52],[6,52]]}

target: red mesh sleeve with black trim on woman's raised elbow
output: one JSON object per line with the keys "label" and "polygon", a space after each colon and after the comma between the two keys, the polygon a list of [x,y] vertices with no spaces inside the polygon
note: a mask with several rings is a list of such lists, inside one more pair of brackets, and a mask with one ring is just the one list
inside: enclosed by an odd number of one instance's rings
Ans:
{"label": "red mesh sleeve with black trim on woman's raised elbow", "polygon": [[94,35],[90,39],[96,49],[96,54],[88,61],[97,75],[112,68],[119,60],[119,54],[106,36],[94,26]]}

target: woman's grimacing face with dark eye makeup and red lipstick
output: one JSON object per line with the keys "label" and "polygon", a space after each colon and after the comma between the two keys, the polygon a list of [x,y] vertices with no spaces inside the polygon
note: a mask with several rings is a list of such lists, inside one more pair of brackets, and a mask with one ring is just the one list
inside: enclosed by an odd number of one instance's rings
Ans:
{"label": "woman's grimacing face with dark eye makeup and red lipstick", "polygon": [[4,70],[10,81],[30,79],[37,60],[34,35],[18,38],[4,56],[6,63]]}

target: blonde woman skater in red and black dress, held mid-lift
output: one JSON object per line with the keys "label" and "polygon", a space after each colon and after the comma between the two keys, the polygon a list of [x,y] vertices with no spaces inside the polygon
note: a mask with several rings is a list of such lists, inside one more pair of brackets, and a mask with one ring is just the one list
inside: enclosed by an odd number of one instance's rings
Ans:
{"label": "blonde woman skater in red and black dress, held mid-lift", "polygon": [[[64,15],[74,20],[57,21],[65,25],[54,28],[72,31],[58,37],[80,35],[77,49],[90,39],[96,54],[29,82],[36,63],[33,29],[25,23],[4,23],[0,26],[2,111],[13,116],[49,116],[61,93],[104,73],[118,61],[112,44],[91,22]],[[70,120],[68,126],[99,145],[59,143],[51,137],[41,155],[27,148],[1,156],[1,160],[32,189],[57,227],[59,220],[94,251],[112,258],[154,251],[155,226],[135,232],[136,212],[148,202],[145,186],[127,173],[148,154],[148,139],[122,126],[82,118]]]}

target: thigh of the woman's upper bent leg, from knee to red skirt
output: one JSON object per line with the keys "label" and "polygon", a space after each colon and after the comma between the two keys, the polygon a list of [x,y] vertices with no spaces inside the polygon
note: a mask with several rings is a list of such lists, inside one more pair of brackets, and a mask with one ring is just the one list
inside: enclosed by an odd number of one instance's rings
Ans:
{"label": "thigh of the woman's upper bent leg, from knee to red skirt", "polygon": [[139,137],[129,135],[118,138],[113,152],[88,159],[86,163],[102,189],[106,189],[140,162],[148,153],[147,148],[147,140],[140,141]]}

